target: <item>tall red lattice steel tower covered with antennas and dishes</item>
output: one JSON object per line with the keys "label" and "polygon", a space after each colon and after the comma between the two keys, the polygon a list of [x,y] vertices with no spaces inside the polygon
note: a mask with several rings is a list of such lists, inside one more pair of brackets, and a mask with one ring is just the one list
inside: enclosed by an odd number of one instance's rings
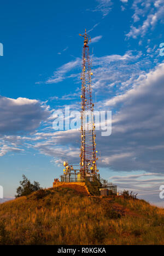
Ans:
{"label": "tall red lattice steel tower covered with antennas and dishes", "polygon": [[97,175],[96,160],[96,132],[93,119],[92,87],[91,87],[91,62],[89,53],[89,40],[86,30],[84,35],[83,65],[81,72],[81,147],[80,147],[80,173],[84,180],[86,175]]}

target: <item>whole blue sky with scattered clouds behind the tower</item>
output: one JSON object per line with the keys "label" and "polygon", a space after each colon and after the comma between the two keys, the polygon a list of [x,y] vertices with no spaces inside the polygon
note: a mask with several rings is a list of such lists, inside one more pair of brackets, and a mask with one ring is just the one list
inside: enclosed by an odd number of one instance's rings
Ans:
{"label": "whole blue sky with scattered clouds behind the tower", "polygon": [[63,160],[79,161],[78,131],[55,132],[52,113],[80,107],[78,34],[86,28],[92,38],[93,100],[96,109],[113,115],[112,135],[96,137],[101,176],[119,190],[130,187],[140,198],[163,204],[163,17],[163,0],[1,3],[4,196],[15,195],[22,174],[50,187]]}

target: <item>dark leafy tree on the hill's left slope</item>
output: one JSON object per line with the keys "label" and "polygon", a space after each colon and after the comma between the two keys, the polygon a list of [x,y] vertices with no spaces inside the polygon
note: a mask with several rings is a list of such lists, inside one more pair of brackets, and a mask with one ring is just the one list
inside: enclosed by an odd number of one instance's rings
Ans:
{"label": "dark leafy tree on the hill's left slope", "polygon": [[34,191],[42,189],[37,181],[34,181],[34,183],[32,184],[25,175],[22,175],[22,178],[23,180],[20,181],[20,186],[16,189],[17,195],[15,197],[27,196]]}

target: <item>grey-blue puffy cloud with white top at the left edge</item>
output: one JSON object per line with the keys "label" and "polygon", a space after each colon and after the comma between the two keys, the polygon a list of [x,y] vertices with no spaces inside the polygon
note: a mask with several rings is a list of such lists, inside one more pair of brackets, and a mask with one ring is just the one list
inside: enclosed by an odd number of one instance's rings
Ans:
{"label": "grey-blue puffy cloud with white top at the left edge", "polygon": [[0,134],[31,132],[49,117],[49,107],[38,100],[0,96]]}

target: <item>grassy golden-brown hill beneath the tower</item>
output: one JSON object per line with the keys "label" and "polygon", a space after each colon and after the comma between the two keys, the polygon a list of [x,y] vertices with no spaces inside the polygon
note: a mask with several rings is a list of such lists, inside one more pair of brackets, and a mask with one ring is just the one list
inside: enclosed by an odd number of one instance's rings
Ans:
{"label": "grassy golden-brown hill beneath the tower", "polygon": [[164,244],[164,209],[77,188],[40,190],[0,204],[0,244]]}

